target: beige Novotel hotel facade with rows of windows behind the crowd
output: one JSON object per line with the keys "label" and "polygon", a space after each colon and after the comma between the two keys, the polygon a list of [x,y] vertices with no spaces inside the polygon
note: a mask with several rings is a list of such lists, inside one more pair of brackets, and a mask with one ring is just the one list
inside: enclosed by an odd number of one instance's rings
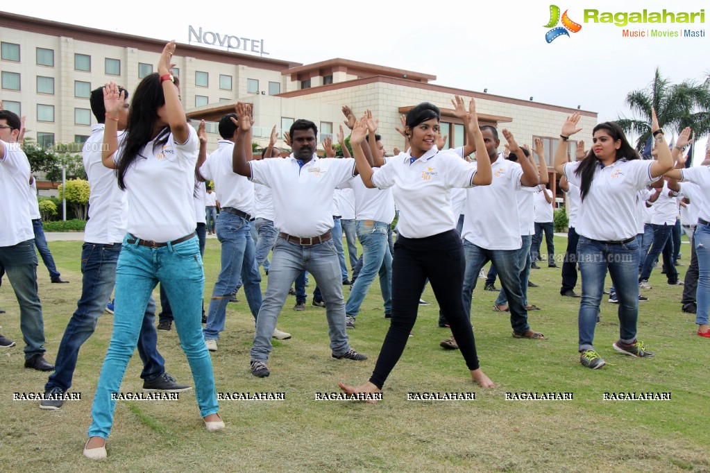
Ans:
{"label": "beige Novotel hotel facade with rows of windows behind the crowd", "polygon": [[[7,110],[27,117],[26,136],[41,145],[86,140],[96,123],[89,92],[109,81],[133,91],[155,71],[165,45],[163,40],[1,11],[0,40],[0,99]],[[322,140],[337,132],[342,105],[358,116],[369,108],[380,120],[378,133],[389,154],[394,147],[403,148],[395,130],[400,115],[422,101],[441,108],[448,144],[463,145],[464,128],[452,114],[454,94],[475,97],[479,121],[508,128],[518,143],[532,145],[533,138],[543,138],[548,164],[564,118],[579,111],[581,127],[591,130],[597,123],[596,112],[455,89],[433,84],[436,76],[429,73],[341,58],[302,65],[195,43],[178,44],[173,60],[187,116],[195,124],[208,122],[209,150],[217,148],[219,117],[234,111],[238,100],[254,106],[254,141],[259,145],[268,143],[273,126],[282,136],[297,118],[314,121]],[[277,145],[288,149],[281,140]],[[572,150],[574,145],[570,142]]]}

